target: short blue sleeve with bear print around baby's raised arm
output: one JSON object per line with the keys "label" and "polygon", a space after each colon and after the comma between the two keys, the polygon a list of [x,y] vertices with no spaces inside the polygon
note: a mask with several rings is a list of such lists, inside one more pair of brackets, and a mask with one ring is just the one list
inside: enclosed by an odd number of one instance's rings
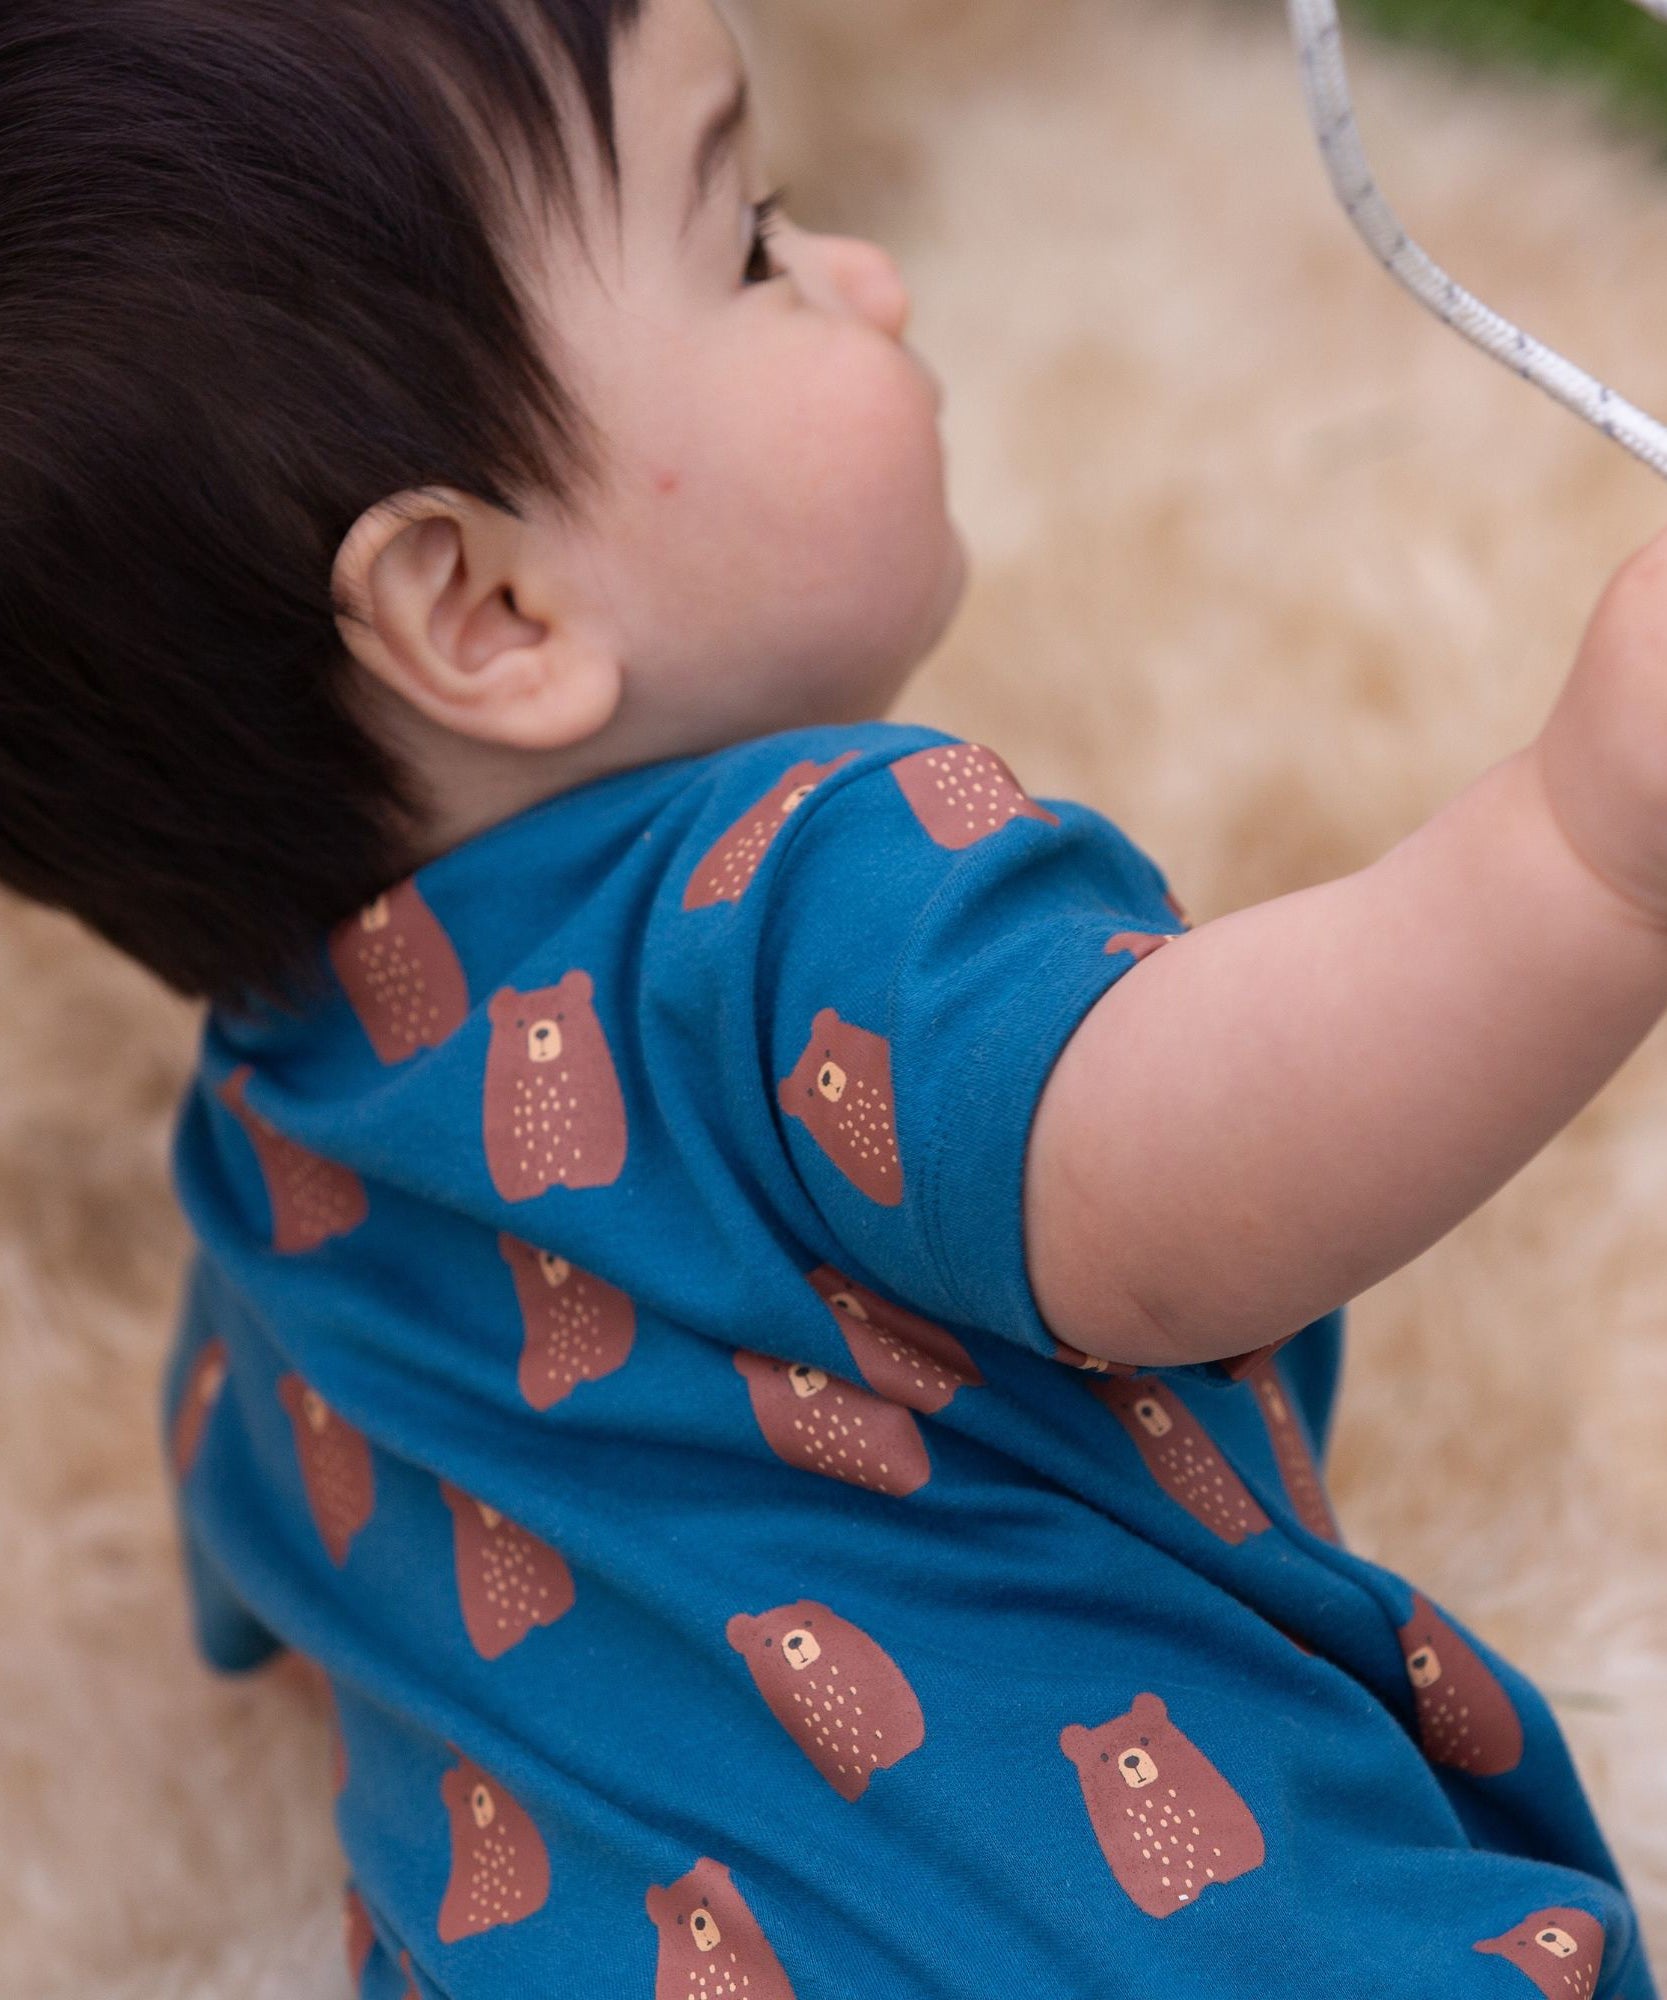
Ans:
{"label": "short blue sleeve with bear print around baby's raised arm", "polygon": [[756,998],[782,1142],[843,1268],[1053,1356],[1025,1268],[1029,1132],[1095,1002],[1185,928],[1163,876],[1101,814],[1031,800],[951,738],[820,784],[784,848]]}

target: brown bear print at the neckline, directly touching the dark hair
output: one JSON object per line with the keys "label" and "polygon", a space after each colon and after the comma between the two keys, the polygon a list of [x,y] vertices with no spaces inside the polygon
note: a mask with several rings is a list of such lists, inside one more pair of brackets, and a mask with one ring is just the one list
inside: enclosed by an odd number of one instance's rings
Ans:
{"label": "brown bear print at the neckline, directly touching the dark hair", "polygon": [[440,1048],[470,1018],[464,968],[416,882],[338,924],[330,964],[378,1062],[410,1062],[418,1050]]}

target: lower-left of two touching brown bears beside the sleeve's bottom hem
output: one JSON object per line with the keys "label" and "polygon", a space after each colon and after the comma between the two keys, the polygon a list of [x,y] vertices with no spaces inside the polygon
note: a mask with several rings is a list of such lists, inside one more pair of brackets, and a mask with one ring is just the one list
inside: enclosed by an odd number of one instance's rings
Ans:
{"label": "lower-left of two touching brown bears beside the sleeve's bottom hem", "polygon": [[736,1350],[736,1368],[746,1376],[752,1414],[770,1450],[790,1466],[899,1500],[931,1478],[915,1420],[895,1402],[810,1362],[782,1362],[748,1348]]}

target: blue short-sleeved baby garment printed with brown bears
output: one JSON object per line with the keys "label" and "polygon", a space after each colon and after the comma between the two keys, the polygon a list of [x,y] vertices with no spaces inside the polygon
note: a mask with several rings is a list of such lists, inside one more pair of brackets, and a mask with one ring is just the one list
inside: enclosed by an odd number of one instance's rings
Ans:
{"label": "blue short-sleeved baby garment printed with brown bears", "polygon": [[1181,924],[989,750],[814,728],[210,1018],[164,1442],[204,1658],[328,1678],[362,2000],[1653,1994],[1545,1702],[1339,1542],[1339,1320],[1037,1314],[1037,1098]]}

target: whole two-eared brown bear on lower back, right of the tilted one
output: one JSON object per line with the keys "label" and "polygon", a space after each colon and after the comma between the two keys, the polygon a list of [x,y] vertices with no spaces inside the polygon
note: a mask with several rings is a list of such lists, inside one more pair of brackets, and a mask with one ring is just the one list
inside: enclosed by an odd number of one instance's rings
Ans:
{"label": "whole two-eared brown bear on lower back, right of the tilted one", "polygon": [[1263,1864],[1249,1806],[1155,1694],[1137,1694],[1125,1716],[1097,1730],[1067,1724],[1059,1748],[1077,1766],[1111,1874],[1147,1916],[1173,1916]]}

